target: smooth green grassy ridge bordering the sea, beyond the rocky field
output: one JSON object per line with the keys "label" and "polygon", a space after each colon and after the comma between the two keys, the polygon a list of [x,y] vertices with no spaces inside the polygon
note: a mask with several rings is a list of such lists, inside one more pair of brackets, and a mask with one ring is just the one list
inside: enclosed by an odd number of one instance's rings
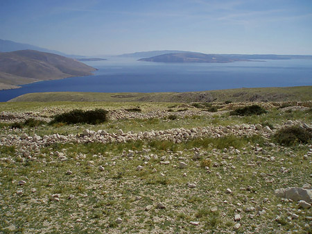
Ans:
{"label": "smooth green grassy ridge bordering the sea, beyond the rocky field", "polygon": [[24,94],[11,101],[156,101],[156,102],[211,102],[211,101],[309,101],[312,86],[256,87],[203,92],[158,93],[99,93],[45,92]]}

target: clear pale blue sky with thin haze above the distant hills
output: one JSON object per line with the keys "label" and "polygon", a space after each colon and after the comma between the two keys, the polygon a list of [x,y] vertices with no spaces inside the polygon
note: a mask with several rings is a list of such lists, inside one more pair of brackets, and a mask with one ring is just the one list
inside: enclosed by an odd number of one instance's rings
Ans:
{"label": "clear pale blue sky with thin haze above the distant hills", "polygon": [[0,0],[0,39],[85,56],[312,55],[312,0]]}

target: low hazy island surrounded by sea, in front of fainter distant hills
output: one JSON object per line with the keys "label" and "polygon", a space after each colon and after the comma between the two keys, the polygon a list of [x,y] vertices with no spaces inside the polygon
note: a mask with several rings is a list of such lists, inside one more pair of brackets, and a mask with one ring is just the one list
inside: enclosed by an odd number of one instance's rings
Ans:
{"label": "low hazy island surrounded by sea, in front of fainter distant hills", "polygon": [[153,56],[150,58],[141,58],[139,61],[149,62],[237,62],[237,61],[254,61],[246,58],[231,58],[229,56],[221,56],[218,54],[206,54],[206,53],[166,53],[159,56]]}

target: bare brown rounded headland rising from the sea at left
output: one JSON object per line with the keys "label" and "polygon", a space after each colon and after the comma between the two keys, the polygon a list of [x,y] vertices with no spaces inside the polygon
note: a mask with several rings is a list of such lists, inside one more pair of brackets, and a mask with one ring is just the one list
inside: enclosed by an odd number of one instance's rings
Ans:
{"label": "bare brown rounded headland rising from the sea at left", "polygon": [[95,70],[83,62],[54,53],[29,49],[0,53],[0,90],[36,81],[89,76]]}

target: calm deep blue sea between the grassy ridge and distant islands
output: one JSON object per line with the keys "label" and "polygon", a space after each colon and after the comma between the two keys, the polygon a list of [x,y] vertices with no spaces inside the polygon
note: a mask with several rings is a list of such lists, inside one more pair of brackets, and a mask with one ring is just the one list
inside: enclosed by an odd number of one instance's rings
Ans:
{"label": "calm deep blue sea between the grassy ridge and distant islands", "polygon": [[159,63],[134,58],[88,61],[94,76],[40,81],[0,91],[0,101],[31,92],[189,92],[312,85],[312,60]]}

